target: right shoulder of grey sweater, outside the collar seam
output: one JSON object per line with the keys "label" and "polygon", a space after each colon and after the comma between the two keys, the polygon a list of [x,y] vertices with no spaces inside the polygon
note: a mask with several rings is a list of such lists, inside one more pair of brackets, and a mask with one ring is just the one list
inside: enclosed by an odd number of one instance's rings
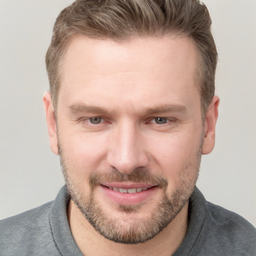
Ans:
{"label": "right shoulder of grey sweater, outside the collar seam", "polygon": [[209,212],[208,234],[211,242],[223,251],[239,252],[234,255],[256,255],[256,229],[240,215],[211,202],[206,202]]}

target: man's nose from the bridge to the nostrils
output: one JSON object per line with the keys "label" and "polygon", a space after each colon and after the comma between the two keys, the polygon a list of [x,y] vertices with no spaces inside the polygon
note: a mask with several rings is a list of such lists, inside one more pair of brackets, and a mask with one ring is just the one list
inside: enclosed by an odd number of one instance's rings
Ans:
{"label": "man's nose from the bridge to the nostrils", "polygon": [[148,162],[143,136],[135,125],[123,122],[112,130],[109,136],[107,163],[123,174],[130,174],[135,168],[145,167]]}

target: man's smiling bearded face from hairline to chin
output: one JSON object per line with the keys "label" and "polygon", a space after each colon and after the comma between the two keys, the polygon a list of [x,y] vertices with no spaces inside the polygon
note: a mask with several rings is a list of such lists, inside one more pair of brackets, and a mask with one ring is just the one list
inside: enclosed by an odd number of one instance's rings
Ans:
{"label": "man's smiling bearded face from hairline to chin", "polygon": [[80,36],[62,64],[57,129],[47,121],[71,198],[107,239],[144,242],[187,204],[197,179],[210,125],[195,47],[186,37]]}

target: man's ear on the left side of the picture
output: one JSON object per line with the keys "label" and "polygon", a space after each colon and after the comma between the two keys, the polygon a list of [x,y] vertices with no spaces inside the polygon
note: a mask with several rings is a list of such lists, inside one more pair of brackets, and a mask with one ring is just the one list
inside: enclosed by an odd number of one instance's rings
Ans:
{"label": "man's ear on the left side of the picture", "polygon": [[53,106],[51,103],[51,95],[48,91],[45,91],[43,93],[43,105],[45,110],[46,122],[48,126],[50,149],[54,154],[58,154],[56,119]]}

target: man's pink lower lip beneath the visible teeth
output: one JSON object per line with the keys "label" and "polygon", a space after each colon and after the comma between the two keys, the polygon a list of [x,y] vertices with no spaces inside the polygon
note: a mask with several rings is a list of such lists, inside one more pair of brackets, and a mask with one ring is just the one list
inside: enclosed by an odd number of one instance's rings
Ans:
{"label": "man's pink lower lip beneath the visible teeth", "polygon": [[147,190],[136,192],[136,193],[121,193],[114,191],[106,186],[100,185],[100,189],[103,190],[104,194],[115,203],[123,205],[138,204],[148,199],[153,193],[156,192],[157,186],[148,188]]}

